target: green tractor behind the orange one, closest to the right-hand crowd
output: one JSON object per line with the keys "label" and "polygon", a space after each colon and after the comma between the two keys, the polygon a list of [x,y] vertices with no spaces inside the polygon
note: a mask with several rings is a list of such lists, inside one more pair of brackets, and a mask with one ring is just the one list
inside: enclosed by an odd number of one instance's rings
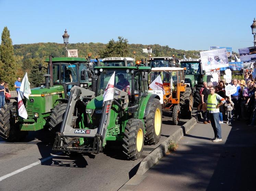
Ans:
{"label": "green tractor behind the orange one, closest to the right-hand crowd", "polygon": [[186,68],[185,84],[193,90],[194,103],[200,103],[200,89],[203,87],[203,82],[210,82],[212,75],[207,75],[202,68],[202,62],[199,59],[182,59],[180,67]]}

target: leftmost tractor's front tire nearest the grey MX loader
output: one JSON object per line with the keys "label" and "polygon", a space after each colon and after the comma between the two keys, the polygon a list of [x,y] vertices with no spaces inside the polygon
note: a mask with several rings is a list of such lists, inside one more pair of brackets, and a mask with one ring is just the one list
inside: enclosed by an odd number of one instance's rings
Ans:
{"label": "leftmost tractor's front tire nearest the grey MX loader", "polygon": [[56,137],[56,132],[60,131],[67,105],[67,103],[59,103],[51,110],[49,120],[50,138],[54,139]]}

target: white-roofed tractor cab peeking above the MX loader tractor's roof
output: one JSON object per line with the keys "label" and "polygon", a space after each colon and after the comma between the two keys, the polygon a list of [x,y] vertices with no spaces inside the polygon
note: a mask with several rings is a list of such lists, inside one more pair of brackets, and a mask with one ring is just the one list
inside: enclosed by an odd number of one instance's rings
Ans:
{"label": "white-roofed tractor cab peeking above the MX loader tractor's roof", "polygon": [[103,66],[110,66],[110,67],[130,67],[134,66],[134,59],[130,57],[109,57],[102,59]]}

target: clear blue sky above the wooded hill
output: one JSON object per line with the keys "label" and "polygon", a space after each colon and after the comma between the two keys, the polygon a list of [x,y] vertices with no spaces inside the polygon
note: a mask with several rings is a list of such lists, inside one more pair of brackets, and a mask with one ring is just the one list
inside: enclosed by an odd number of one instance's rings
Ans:
{"label": "clear blue sky above the wooded hill", "polygon": [[[135,44],[160,44],[184,50],[209,46],[253,46],[255,1],[172,0],[0,0],[0,32],[13,44],[108,43],[118,36]],[[241,42],[251,41],[251,42]]]}

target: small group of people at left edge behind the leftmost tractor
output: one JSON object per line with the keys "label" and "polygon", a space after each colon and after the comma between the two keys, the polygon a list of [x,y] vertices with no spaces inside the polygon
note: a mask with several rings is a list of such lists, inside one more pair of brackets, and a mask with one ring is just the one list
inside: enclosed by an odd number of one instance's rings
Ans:
{"label": "small group of people at left edge behind the leftmost tractor", "polygon": [[[14,83],[14,87],[18,93],[21,87],[20,77],[17,78],[17,81]],[[11,97],[11,92],[9,90],[8,82],[1,81],[0,82],[0,111],[2,109],[2,106],[5,105],[5,103],[10,103],[10,97]]]}

